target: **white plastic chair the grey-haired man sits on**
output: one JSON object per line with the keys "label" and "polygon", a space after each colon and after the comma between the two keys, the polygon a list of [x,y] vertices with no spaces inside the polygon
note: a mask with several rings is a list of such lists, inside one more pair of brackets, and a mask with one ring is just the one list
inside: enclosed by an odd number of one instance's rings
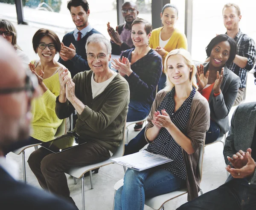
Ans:
{"label": "white plastic chair the grey-haired man sits on", "polygon": [[[126,119],[125,119],[126,120]],[[73,167],[70,170],[68,170],[67,174],[73,176],[73,178],[81,178],[81,186],[82,186],[82,210],[84,210],[84,174],[88,171],[90,171],[90,181],[91,181],[91,189],[93,189],[93,179],[92,179],[92,170],[103,167],[109,164],[112,164],[111,159],[113,158],[119,158],[122,157],[125,152],[125,126],[123,128],[123,139],[120,142],[120,146],[116,149],[116,152],[112,155],[111,158],[108,160],[96,163],[96,164],[91,164],[91,165],[86,165],[86,166],[79,166],[79,167]]]}

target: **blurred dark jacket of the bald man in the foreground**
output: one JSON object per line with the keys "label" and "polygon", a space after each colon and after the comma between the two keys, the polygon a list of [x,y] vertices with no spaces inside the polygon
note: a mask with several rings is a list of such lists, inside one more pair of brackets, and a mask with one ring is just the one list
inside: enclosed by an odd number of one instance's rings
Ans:
{"label": "blurred dark jacket of the bald man in the foreground", "polygon": [[70,202],[15,181],[0,167],[1,210],[78,210]]}

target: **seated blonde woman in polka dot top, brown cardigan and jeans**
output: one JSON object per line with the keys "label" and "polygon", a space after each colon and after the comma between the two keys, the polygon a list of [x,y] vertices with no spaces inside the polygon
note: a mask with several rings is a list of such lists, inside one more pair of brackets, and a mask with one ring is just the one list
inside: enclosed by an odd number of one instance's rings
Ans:
{"label": "seated blonde woman in polka dot top, brown cardigan and jeans", "polygon": [[164,63],[166,88],[151,107],[145,138],[147,151],[173,161],[148,170],[128,169],[116,192],[115,210],[143,210],[145,198],[188,188],[188,200],[198,197],[199,148],[209,129],[207,100],[197,91],[196,67],[185,49],[169,52]]}

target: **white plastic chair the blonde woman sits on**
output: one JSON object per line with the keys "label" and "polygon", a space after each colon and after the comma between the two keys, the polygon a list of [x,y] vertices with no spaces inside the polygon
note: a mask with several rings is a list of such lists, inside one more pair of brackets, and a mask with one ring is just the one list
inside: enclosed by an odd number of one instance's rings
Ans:
{"label": "white plastic chair the blonde woman sits on", "polygon": [[[203,167],[203,155],[204,155],[204,145],[200,147],[199,149],[199,159],[198,159],[198,170],[200,175],[200,182],[202,180],[202,167]],[[116,196],[116,190],[119,189],[119,187],[122,187],[124,184],[124,180],[121,179],[114,185],[115,194],[114,194],[114,202],[113,202],[113,210],[114,210],[114,203],[115,203],[115,196]],[[160,196],[156,196],[154,198],[148,198],[145,199],[145,205],[148,207],[153,208],[154,210],[164,210],[164,204],[174,198],[177,198],[179,196],[182,196],[188,192],[187,188],[181,188],[179,190],[175,190],[171,193],[166,193]],[[203,191],[200,189],[200,194],[203,194]]]}

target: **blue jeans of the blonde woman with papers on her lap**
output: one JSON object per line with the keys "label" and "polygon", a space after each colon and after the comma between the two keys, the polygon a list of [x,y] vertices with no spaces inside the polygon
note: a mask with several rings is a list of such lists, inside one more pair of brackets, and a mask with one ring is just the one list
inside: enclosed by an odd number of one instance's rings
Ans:
{"label": "blue jeans of the blonde woman with papers on her lap", "polygon": [[159,167],[143,171],[128,169],[124,185],[116,191],[115,210],[143,210],[145,198],[169,193],[185,185],[186,180]]}

